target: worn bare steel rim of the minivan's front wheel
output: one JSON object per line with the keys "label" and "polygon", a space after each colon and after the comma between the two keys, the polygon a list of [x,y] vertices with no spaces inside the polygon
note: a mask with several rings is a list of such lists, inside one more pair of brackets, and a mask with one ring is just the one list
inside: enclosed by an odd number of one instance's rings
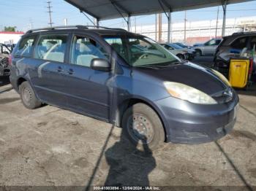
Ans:
{"label": "worn bare steel rim of the minivan's front wheel", "polygon": [[154,129],[151,121],[143,114],[133,114],[128,119],[128,133],[134,141],[150,143],[154,136]]}

